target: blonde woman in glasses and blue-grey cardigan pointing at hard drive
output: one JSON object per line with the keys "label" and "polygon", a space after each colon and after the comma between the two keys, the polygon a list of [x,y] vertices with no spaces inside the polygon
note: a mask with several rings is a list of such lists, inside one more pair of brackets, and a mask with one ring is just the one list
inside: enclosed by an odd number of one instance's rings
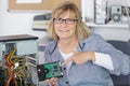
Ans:
{"label": "blonde woman in glasses and blue-grey cardigan pointing at hard drive", "polygon": [[72,2],[52,12],[48,33],[54,41],[46,47],[46,62],[61,61],[64,72],[47,80],[50,86],[113,86],[109,73],[130,72],[130,57],[92,33]]}

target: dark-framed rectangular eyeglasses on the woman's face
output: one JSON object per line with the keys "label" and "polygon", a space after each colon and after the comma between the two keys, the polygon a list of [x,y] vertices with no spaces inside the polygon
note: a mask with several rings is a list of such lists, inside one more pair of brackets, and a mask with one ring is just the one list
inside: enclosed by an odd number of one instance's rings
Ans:
{"label": "dark-framed rectangular eyeglasses on the woman's face", "polygon": [[65,22],[65,24],[72,25],[75,22],[78,22],[78,19],[70,19],[70,18],[66,18],[66,19],[62,19],[62,18],[53,18],[53,22],[56,24],[62,24],[63,22]]}

